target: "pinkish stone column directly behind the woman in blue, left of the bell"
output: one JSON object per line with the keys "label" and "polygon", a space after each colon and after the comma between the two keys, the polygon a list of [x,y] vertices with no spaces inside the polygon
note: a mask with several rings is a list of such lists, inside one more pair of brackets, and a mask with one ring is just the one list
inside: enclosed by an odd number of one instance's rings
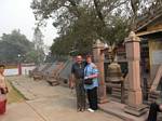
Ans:
{"label": "pinkish stone column directly behind the woman in blue, left of the bell", "polygon": [[107,94],[106,94],[106,84],[105,84],[105,75],[104,75],[104,43],[99,40],[93,45],[93,56],[94,63],[96,64],[99,70],[99,88],[98,88],[98,103],[104,104],[107,103]]}

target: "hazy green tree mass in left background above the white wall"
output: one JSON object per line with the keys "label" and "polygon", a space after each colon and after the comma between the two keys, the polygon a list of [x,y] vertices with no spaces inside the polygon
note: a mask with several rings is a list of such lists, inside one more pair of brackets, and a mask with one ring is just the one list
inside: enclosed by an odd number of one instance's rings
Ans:
{"label": "hazy green tree mass in left background above the white wall", "polygon": [[44,60],[44,52],[40,41],[37,45],[36,50],[35,43],[30,42],[19,30],[3,33],[0,40],[0,63],[41,63]]}

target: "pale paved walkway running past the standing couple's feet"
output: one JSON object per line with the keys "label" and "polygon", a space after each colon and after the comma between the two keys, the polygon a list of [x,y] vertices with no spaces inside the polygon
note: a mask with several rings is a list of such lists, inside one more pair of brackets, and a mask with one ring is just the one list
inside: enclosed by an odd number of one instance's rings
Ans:
{"label": "pale paved walkway running past the standing couple's feet", "polygon": [[103,111],[77,112],[75,92],[64,86],[50,86],[45,81],[10,78],[14,86],[28,99],[8,106],[0,121],[122,121]]}

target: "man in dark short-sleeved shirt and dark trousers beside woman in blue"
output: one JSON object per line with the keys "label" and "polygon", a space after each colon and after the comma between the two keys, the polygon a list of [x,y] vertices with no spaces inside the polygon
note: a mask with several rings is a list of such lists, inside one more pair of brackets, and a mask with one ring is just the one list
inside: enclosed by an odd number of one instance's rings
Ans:
{"label": "man in dark short-sleeved shirt and dark trousers beside woman in blue", "polygon": [[84,67],[85,63],[83,63],[82,56],[76,56],[76,63],[71,67],[70,88],[73,88],[76,85],[78,111],[85,110],[85,91],[83,84]]}

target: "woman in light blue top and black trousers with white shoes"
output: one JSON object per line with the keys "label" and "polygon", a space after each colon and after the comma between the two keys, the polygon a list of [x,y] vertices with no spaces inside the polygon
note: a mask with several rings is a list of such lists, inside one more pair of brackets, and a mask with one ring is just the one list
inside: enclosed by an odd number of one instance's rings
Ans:
{"label": "woman in light blue top and black trousers with white shoes", "polygon": [[86,56],[86,63],[87,65],[84,68],[84,88],[90,104],[90,108],[87,110],[94,112],[95,110],[98,109],[97,106],[98,70],[95,64],[92,63],[91,55]]}

